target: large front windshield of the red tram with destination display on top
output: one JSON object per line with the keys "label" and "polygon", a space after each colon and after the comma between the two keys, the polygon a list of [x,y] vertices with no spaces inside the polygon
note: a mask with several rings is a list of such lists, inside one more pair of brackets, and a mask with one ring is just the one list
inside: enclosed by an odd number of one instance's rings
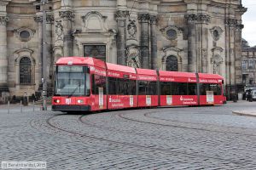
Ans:
{"label": "large front windshield of the red tram with destination display on top", "polygon": [[84,96],[86,93],[86,77],[89,78],[86,66],[62,66],[56,68],[55,95]]}

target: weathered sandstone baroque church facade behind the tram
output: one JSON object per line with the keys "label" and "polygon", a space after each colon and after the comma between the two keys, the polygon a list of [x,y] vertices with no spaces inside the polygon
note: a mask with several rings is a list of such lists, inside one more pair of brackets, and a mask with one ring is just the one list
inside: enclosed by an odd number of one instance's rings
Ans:
{"label": "weathered sandstone baroque church facade behind the tram", "polygon": [[[241,0],[0,1],[0,99],[53,87],[55,61],[91,56],[119,65],[217,73],[242,84]],[[44,42],[43,42],[44,37]],[[43,44],[47,67],[42,68]],[[49,90],[50,91],[50,90]]]}

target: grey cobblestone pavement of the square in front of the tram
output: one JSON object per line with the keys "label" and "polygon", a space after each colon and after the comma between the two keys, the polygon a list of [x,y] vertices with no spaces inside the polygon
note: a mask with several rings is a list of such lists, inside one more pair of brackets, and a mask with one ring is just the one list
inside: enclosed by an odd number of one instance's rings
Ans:
{"label": "grey cobblestone pavement of the square in front of the tram", "polygon": [[[47,169],[256,169],[255,102],[67,115],[0,105],[0,161]],[[35,110],[35,111],[33,111]]]}

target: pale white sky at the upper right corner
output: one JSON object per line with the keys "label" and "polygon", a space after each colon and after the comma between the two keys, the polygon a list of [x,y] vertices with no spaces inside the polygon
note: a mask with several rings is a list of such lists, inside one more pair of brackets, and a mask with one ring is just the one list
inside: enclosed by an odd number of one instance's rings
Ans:
{"label": "pale white sky at the upper right corner", "polygon": [[256,0],[241,0],[241,3],[247,8],[241,18],[244,25],[241,36],[253,47],[256,46]]}

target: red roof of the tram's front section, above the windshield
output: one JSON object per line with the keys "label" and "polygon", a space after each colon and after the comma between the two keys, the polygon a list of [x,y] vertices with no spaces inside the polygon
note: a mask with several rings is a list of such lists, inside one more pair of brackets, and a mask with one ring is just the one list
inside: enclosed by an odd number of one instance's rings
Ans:
{"label": "red roof of the tram's front section, above the windshield", "polygon": [[55,63],[56,65],[95,65],[106,69],[105,62],[93,57],[61,57]]}

